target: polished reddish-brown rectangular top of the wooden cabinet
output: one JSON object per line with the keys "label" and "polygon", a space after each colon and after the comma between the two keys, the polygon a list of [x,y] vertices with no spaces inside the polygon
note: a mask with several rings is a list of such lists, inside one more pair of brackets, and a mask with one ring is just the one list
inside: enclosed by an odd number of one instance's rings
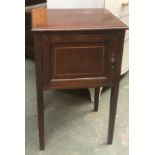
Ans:
{"label": "polished reddish-brown rectangular top of the wooden cabinet", "polygon": [[33,31],[115,30],[128,27],[107,9],[32,10]]}

